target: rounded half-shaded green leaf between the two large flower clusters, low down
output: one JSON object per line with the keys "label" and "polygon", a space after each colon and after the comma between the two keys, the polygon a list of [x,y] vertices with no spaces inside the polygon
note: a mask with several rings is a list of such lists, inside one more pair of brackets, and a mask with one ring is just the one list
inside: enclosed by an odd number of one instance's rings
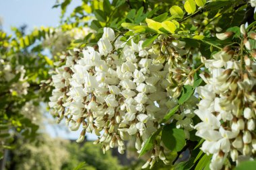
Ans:
{"label": "rounded half-shaded green leaf between the two large flower clusters, low down", "polygon": [[170,151],[179,152],[186,144],[184,130],[177,129],[173,123],[164,126],[161,139]]}

